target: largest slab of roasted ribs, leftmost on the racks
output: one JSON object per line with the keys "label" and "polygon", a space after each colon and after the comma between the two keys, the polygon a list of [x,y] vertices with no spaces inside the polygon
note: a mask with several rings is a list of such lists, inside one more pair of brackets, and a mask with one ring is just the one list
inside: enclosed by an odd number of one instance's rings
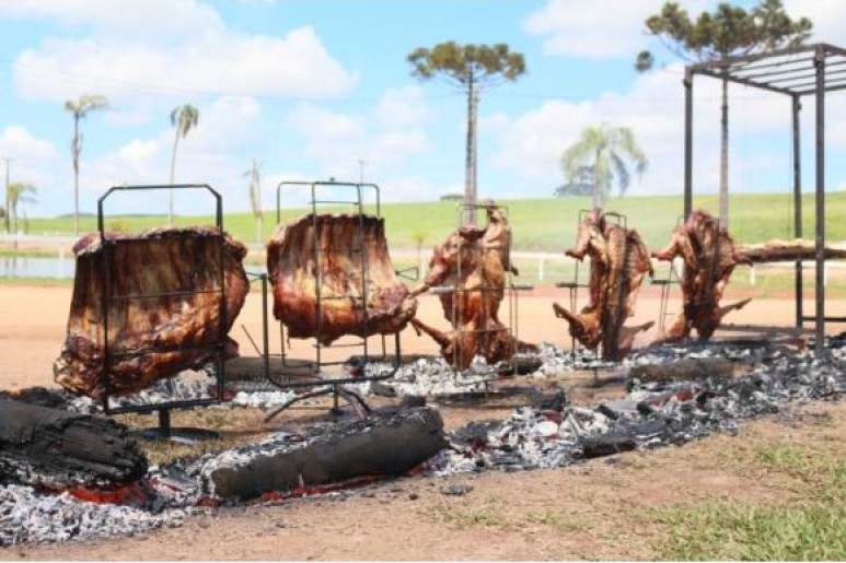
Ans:
{"label": "largest slab of roasted ribs, leftmost on the racks", "polygon": [[221,341],[237,355],[227,335],[248,291],[243,244],[216,227],[162,227],[88,235],[73,253],[68,332],[54,364],[62,387],[98,399],[105,375],[111,395],[128,395],[201,367]]}

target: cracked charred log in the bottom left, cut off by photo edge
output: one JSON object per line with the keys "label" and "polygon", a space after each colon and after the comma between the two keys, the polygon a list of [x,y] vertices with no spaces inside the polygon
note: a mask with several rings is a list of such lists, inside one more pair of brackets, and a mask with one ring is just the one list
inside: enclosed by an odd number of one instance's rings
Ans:
{"label": "cracked charred log in the bottom left, cut off by photo edge", "polygon": [[112,419],[0,400],[0,481],[39,488],[121,485],[147,458]]}

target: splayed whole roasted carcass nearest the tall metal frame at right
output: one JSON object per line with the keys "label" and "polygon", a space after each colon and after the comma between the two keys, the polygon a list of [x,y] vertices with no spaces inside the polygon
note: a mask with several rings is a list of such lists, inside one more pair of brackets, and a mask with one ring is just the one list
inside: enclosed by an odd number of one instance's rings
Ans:
{"label": "splayed whole roasted carcass nearest the tall metal frame at right", "polygon": [[707,340],[729,312],[740,309],[751,298],[720,307],[719,303],[734,267],[750,263],[734,246],[726,227],[707,211],[693,211],[677,225],[663,250],[652,253],[659,260],[672,261],[681,256],[682,312],[667,329],[663,340],[688,338],[696,329],[699,340]]}

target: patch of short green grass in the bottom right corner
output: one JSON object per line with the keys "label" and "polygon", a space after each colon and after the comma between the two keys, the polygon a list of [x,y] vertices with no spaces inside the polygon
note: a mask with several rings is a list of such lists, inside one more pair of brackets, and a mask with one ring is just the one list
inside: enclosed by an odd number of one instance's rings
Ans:
{"label": "patch of short green grass in the bottom right corner", "polygon": [[708,502],[653,512],[668,537],[660,559],[846,560],[846,460],[804,444],[752,449],[758,471],[778,473],[793,500]]}

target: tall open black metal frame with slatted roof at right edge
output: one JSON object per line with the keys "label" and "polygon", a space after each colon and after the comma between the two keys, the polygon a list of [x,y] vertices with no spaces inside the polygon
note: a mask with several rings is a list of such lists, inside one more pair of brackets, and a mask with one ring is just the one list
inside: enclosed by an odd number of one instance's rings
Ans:
{"label": "tall open black metal frame with slatted roof at right edge", "polygon": [[823,351],[825,322],[846,321],[846,317],[825,316],[825,93],[846,90],[846,49],[819,43],[804,47],[692,64],[685,68],[684,118],[684,216],[693,208],[693,79],[696,74],[735,82],[746,86],[788,95],[792,112],[793,149],[793,233],[802,236],[802,189],[799,140],[799,112],[801,96],[813,94],[816,109],[815,130],[815,312],[806,316],[802,312],[802,260],[796,261],[796,326],[806,320],[814,321],[814,351]]}

